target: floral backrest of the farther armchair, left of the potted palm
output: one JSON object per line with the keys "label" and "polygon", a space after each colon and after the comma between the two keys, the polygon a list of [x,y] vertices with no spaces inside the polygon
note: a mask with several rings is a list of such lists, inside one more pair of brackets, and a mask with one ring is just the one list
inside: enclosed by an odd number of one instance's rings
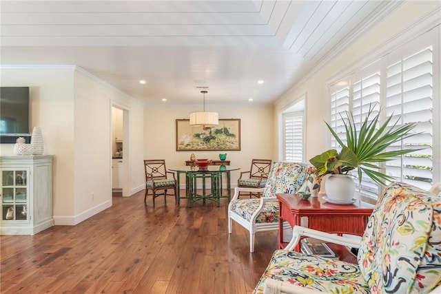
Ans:
{"label": "floral backrest of the farther armchair, left of the potted palm", "polygon": [[263,197],[276,197],[276,193],[295,193],[305,182],[307,169],[308,165],[302,162],[274,162]]}

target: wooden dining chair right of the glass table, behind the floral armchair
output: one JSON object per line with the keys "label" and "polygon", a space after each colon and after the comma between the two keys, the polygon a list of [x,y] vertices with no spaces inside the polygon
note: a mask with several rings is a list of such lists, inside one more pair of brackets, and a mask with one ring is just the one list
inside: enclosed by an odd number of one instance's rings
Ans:
{"label": "wooden dining chair right of the glass table, behind the floral armchair", "polygon": [[[252,159],[249,171],[241,171],[237,180],[237,187],[242,188],[263,188],[267,183],[269,171],[271,169],[271,159]],[[253,193],[249,192],[249,198]],[[260,193],[257,194],[260,197]]]}

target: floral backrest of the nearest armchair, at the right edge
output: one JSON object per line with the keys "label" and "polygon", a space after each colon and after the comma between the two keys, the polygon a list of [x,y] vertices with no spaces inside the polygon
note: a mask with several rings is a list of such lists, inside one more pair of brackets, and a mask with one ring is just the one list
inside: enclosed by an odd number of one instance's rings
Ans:
{"label": "floral backrest of the nearest armchair, at the right edge", "polygon": [[358,251],[373,293],[425,293],[440,281],[441,207],[435,197],[404,183],[384,189]]}

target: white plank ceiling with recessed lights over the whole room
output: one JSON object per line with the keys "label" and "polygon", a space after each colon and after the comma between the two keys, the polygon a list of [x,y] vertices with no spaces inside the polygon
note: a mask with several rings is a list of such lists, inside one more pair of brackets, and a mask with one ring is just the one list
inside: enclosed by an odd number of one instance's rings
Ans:
{"label": "white plank ceiling with recessed lights over the whole room", "polygon": [[2,0],[0,61],[76,65],[147,104],[205,86],[207,104],[272,103],[400,3]]}

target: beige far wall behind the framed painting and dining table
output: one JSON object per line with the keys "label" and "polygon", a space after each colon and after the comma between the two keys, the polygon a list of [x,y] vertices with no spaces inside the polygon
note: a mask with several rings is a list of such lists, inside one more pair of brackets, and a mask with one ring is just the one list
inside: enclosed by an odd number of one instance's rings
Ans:
{"label": "beige far wall behind the framed painting and dining table", "polygon": [[[185,165],[194,153],[196,158],[227,160],[242,171],[249,170],[252,158],[274,158],[274,117],[271,105],[209,105],[219,118],[240,118],[240,151],[176,151],[176,119],[189,118],[201,105],[160,105],[145,107],[145,159],[165,159],[167,168]],[[232,172],[232,187],[240,171]]]}

